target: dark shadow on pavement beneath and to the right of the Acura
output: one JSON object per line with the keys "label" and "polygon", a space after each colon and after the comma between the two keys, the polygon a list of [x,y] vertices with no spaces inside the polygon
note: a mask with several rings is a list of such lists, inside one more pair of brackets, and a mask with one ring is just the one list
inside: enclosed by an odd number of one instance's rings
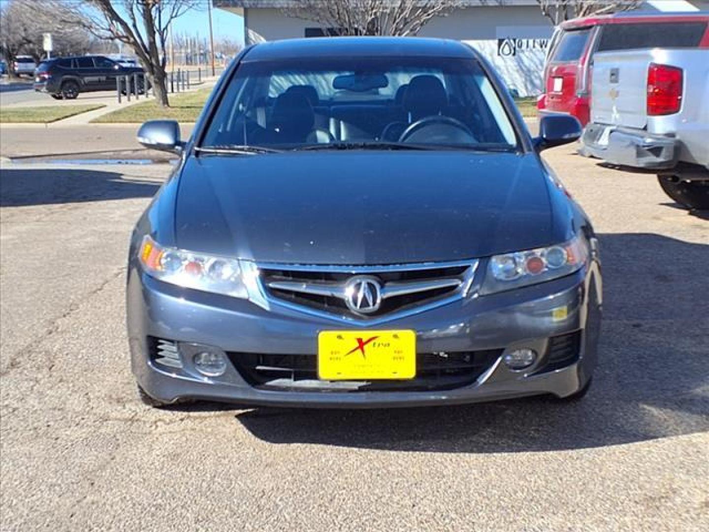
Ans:
{"label": "dark shadow on pavement beneath and to the right of the Acura", "polygon": [[604,322],[581,401],[537,397],[420,409],[259,408],[235,419],[269,443],[441,453],[596,448],[709,430],[709,245],[600,236]]}

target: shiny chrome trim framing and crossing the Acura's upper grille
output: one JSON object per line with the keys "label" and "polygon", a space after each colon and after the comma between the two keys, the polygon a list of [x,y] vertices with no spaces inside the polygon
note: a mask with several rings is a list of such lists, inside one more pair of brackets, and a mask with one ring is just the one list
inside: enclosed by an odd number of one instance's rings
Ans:
{"label": "shiny chrome trim framing and crossing the Acura's upper grille", "polygon": [[[466,297],[473,283],[478,260],[466,260],[456,262],[425,262],[421,264],[404,264],[404,265],[374,265],[374,266],[348,266],[348,265],[288,265],[276,263],[258,263],[259,283],[262,286],[262,292],[267,304],[281,306],[285,309],[298,311],[310,316],[327,318],[329,320],[347,323],[350,325],[359,326],[376,326],[379,323],[386,323],[406,316],[413,316],[425,311],[436,309],[454,301],[459,301]],[[432,279],[412,279],[406,280],[391,280],[382,282],[382,299],[402,297],[411,294],[424,294],[427,291],[434,293],[442,289],[450,289],[450,294],[444,294],[436,297],[435,295],[430,300],[415,302],[408,306],[403,306],[401,309],[387,311],[386,314],[376,316],[360,316],[349,313],[346,309],[337,308],[313,308],[316,305],[302,304],[300,301],[287,301],[278,294],[273,294],[271,290],[279,290],[282,292],[291,292],[292,294],[305,294],[306,296],[316,297],[333,297],[344,300],[345,297],[345,280],[273,280],[267,279],[268,272],[307,272],[308,274],[321,273],[323,276],[328,274],[345,274],[345,275],[387,275],[396,273],[411,273],[425,270],[445,270],[448,268],[464,268],[457,275],[447,277],[432,278]],[[266,274],[266,275],[264,275]],[[439,292],[440,293],[440,292]]]}

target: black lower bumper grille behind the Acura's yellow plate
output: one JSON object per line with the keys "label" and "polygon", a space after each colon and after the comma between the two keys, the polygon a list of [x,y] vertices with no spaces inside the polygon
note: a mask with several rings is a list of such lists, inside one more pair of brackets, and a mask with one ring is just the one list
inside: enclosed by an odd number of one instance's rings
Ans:
{"label": "black lower bumper grille behind the Acura's yellow plate", "polygon": [[289,392],[425,392],[473,384],[503,350],[461,353],[419,353],[416,377],[411,380],[329,382],[318,379],[316,355],[228,353],[233,365],[251,386]]}

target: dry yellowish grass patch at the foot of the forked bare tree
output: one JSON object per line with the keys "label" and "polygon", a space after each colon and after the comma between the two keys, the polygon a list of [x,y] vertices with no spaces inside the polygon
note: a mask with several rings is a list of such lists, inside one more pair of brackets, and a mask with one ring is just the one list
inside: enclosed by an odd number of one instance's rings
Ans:
{"label": "dry yellowish grass patch at the foot of the forked bare tree", "polygon": [[212,89],[201,89],[185,94],[172,94],[170,106],[160,107],[155,99],[140,104],[125,106],[113,113],[99,116],[95,123],[143,123],[146,120],[169,119],[178,122],[194,122],[201,113]]}

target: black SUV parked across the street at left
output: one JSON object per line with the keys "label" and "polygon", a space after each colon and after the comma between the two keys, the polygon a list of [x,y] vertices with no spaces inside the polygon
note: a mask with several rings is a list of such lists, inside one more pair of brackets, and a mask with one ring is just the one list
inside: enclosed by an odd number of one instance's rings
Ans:
{"label": "black SUV parked across the street at left", "polygon": [[[116,77],[143,73],[140,67],[124,67],[101,55],[57,57],[43,61],[35,74],[35,91],[47,92],[52,98],[73,100],[79,92],[116,89]],[[138,82],[142,92],[143,80]]]}

